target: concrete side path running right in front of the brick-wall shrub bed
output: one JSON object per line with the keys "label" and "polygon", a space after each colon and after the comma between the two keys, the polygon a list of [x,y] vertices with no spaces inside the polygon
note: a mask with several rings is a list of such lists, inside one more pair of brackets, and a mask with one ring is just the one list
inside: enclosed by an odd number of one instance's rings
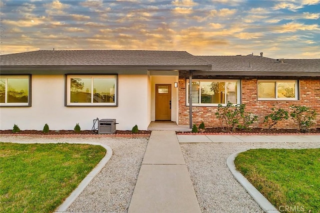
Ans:
{"label": "concrete side path running right in front of the brick-wall shrub bed", "polygon": [[320,142],[320,135],[177,135],[179,143]]}

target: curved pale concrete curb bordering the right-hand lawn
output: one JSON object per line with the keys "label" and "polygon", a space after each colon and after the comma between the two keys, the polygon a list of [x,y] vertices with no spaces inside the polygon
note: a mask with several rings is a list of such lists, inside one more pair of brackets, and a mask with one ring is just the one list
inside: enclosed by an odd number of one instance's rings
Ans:
{"label": "curved pale concrete curb bordering the right-hand lawn", "polygon": [[246,180],[240,172],[235,169],[234,159],[241,152],[244,151],[235,152],[226,159],[226,165],[230,172],[265,213],[279,213],[277,209],[257,189],[255,189],[255,187]]}

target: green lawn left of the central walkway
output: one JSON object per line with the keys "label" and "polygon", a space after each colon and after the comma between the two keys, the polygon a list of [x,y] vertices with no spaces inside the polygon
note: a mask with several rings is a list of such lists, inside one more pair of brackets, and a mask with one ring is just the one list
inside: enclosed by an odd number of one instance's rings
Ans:
{"label": "green lawn left of the central walkway", "polygon": [[53,212],[105,152],[86,144],[0,142],[0,212]]}

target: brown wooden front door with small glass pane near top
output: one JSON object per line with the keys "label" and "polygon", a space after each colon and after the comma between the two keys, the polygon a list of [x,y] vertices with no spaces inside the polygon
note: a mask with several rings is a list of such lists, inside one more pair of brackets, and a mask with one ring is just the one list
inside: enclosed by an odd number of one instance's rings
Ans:
{"label": "brown wooden front door with small glass pane near top", "polygon": [[171,120],[171,84],[155,84],[155,120]]}

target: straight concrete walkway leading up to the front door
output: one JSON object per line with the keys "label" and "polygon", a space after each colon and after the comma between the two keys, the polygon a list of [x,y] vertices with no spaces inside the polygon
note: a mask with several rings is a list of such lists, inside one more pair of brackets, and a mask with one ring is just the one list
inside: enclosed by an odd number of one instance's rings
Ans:
{"label": "straight concrete walkway leading up to the front door", "polygon": [[128,213],[200,213],[174,131],[152,131]]}

